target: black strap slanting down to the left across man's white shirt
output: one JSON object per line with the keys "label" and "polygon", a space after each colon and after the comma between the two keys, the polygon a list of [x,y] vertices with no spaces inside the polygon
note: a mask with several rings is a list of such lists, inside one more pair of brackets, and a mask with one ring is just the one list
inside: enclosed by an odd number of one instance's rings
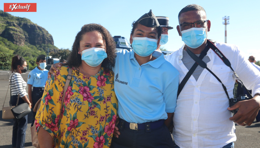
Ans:
{"label": "black strap slanting down to the left across man's white shirt", "polygon": [[[184,49],[183,49],[184,50]],[[206,56],[207,52],[209,51],[209,47],[206,46],[204,48],[204,50],[200,53],[200,59],[203,59],[203,57]],[[195,55],[196,56],[196,55]],[[196,56],[197,57],[197,56]],[[186,76],[183,78],[183,80],[181,81],[179,87],[178,87],[178,93],[177,93],[177,98],[181,93],[181,90],[183,89],[183,87],[185,86],[186,82],[189,80],[190,76],[192,75],[192,73],[195,71],[195,69],[198,67],[198,63],[194,63],[193,66],[190,68],[189,72],[186,74]]]}

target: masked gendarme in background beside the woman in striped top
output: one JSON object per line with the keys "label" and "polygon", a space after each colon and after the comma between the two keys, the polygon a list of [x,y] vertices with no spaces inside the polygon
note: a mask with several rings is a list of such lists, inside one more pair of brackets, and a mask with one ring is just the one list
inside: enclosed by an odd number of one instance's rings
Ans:
{"label": "masked gendarme in background beside the woman in striped top", "polygon": [[[32,103],[32,108],[34,108],[36,102],[42,97],[45,83],[48,79],[48,70],[45,69],[46,65],[46,57],[44,55],[39,55],[36,59],[35,67],[28,75],[28,96],[29,100]],[[36,112],[32,111],[32,122],[31,126],[33,126],[34,118]]]}

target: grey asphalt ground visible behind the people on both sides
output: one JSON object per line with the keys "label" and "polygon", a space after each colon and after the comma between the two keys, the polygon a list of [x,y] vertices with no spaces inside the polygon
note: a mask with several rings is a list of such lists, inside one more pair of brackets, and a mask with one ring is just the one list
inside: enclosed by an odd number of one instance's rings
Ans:
{"label": "grey asphalt ground visible behind the people on both sides", "polygon": [[[3,105],[5,95],[7,92],[8,80],[0,80],[0,105]],[[27,90],[27,88],[26,88]],[[8,106],[10,99],[10,91],[7,93],[7,101],[5,106]],[[12,126],[13,120],[2,119],[2,109],[0,111],[0,148],[12,148]],[[28,127],[26,130],[25,147],[33,148],[31,144],[31,117],[28,115]],[[260,122],[254,122],[251,126],[236,125],[237,141],[235,141],[235,148],[260,148]],[[217,139],[216,139],[217,140]]]}

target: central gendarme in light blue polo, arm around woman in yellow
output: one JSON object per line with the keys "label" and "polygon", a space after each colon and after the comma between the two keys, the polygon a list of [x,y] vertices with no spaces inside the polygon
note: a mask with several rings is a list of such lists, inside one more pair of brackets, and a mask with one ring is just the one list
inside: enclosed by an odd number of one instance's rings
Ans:
{"label": "central gendarme in light blue polo, arm around woman in yellow", "polygon": [[[179,73],[165,60],[159,46],[162,28],[150,10],[132,23],[133,50],[117,52],[113,67],[119,123],[112,148],[173,147],[168,126],[176,107]],[[55,75],[57,66],[51,66]]]}

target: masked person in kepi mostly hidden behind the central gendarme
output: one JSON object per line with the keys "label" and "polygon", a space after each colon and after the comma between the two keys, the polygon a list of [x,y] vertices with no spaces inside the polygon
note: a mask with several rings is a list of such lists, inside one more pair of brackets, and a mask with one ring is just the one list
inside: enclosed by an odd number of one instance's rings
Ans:
{"label": "masked person in kepi mostly hidden behind the central gendarme", "polygon": [[160,50],[161,45],[165,45],[168,42],[168,38],[169,38],[168,30],[173,29],[173,27],[169,26],[169,17],[157,16],[156,18],[160,26],[162,27],[160,44],[156,50],[161,52]]}

